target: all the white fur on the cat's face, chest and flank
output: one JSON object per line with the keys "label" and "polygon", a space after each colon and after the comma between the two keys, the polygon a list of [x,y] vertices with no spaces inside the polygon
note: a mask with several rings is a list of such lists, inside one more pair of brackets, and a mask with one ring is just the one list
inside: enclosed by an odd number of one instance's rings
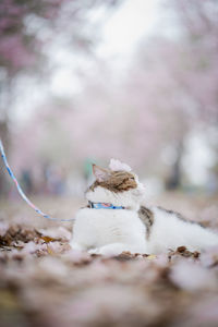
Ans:
{"label": "all the white fur on the cat's face, chest and flank", "polygon": [[137,175],[135,180],[137,187],[125,192],[113,193],[97,186],[86,193],[90,202],[111,203],[126,209],[78,210],[71,241],[73,249],[110,256],[123,251],[158,254],[181,245],[191,251],[201,251],[218,244],[218,235],[214,232],[157,207],[149,208],[154,214],[154,225],[147,238],[146,227],[137,214],[145,193],[144,186]]}

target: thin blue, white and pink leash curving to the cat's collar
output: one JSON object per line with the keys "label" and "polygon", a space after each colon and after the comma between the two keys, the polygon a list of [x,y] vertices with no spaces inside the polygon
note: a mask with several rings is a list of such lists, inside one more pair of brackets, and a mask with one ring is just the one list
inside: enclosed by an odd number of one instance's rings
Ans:
{"label": "thin blue, white and pink leash curving to the cat's collar", "polygon": [[29,207],[32,207],[38,215],[43,216],[44,218],[46,219],[50,219],[50,220],[56,220],[56,221],[72,221],[74,220],[74,218],[72,219],[58,219],[58,218],[53,218],[53,217],[50,217],[49,215],[45,214],[44,211],[41,211],[37,206],[35,206],[33,204],[33,202],[31,202],[31,199],[25,195],[25,193],[23,192],[21,185],[19,184],[13,171],[11,170],[10,166],[9,166],[9,162],[7,160],[7,156],[5,156],[5,153],[4,153],[4,148],[3,148],[3,144],[0,140],[0,153],[1,153],[1,157],[3,159],[3,162],[4,162],[4,166],[9,172],[9,175],[11,177],[11,179],[13,180],[21,197],[29,205]]}

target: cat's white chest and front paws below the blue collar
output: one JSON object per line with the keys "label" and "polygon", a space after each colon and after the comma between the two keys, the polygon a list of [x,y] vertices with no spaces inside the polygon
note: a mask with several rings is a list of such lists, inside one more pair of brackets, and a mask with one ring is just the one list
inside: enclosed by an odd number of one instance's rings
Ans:
{"label": "cat's white chest and front paws below the blue collar", "polygon": [[78,210],[73,228],[73,249],[116,255],[123,251],[146,253],[145,227],[133,210]]}

